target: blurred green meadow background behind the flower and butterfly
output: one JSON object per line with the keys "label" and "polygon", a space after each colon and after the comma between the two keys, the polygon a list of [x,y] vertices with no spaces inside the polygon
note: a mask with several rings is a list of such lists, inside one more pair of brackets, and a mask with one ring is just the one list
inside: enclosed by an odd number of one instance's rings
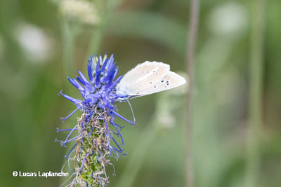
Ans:
{"label": "blurred green meadow background behind the flower and butterfly", "polygon": [[[67,76],[76,76],[78,70],[86,74],[91,53],[113,53],[119,75],[145,60],[170,64],[171,71],[187,69],[190,1],[88,2],[95,3],[92,9],[69,8],[58,0],[0,1],[0,186],[63,183],[59,177],[13,177],[12,172],[60,172],[68,148],[54,139],[67,134],[57,133],[56,127],[76,123],[74,117],[61,122],[60,116],[74,106],[58,92],[79,97]],[[252,4],[212,0],[200,6],[192,137],[195,183],[245,186],[251,159],[247,123]],[[268,1],[264,15],[258,186],[281,185],[280,7],[281,1]],[[89,22],[91,18],[96,21]],[[185,92],[183,87],[131,100],[138,125],[119,121],[126,126],[122,135],[128,155],[111,159],[117,176],[107,167],[110,186],[185,186]],[[132,118],[128,104],[117,108]]]}

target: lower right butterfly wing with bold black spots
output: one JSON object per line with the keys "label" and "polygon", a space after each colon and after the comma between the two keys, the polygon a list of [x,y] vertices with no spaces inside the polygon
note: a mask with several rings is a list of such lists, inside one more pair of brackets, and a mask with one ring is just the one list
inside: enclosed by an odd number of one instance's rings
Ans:
{"label": "lower right butterfly wing with bold black spots", "polygon": [[149,88],[139,90],[138,95],[150,95],[155,92],[169,90],[171,88],[176,88],[179,85],[183,85],[185,82],[186,81],[182,76],[179,76],[172,71],[168,71],[167,74],[154,85],[151,85]]}

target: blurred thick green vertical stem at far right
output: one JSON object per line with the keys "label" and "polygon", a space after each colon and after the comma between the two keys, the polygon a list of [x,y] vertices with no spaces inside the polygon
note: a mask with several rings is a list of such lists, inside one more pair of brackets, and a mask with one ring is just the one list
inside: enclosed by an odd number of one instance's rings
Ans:
{"label": "blurred thick green vertical stem at far right", "polygon": [[252,1],[251,60],[249,82],[249,137],[247,185],[258,186],[262,128],[263,32],[265,0]]}

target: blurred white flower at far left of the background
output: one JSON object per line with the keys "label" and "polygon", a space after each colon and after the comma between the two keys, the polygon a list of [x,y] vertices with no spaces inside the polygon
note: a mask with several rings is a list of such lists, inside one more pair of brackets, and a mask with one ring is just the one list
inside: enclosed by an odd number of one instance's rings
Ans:
{"label": "blurred white flower at far left of the background", "polygon": [[52,39],[40,27],[20,23],[14,34],[30,62],[44,62],[51,56]]}

